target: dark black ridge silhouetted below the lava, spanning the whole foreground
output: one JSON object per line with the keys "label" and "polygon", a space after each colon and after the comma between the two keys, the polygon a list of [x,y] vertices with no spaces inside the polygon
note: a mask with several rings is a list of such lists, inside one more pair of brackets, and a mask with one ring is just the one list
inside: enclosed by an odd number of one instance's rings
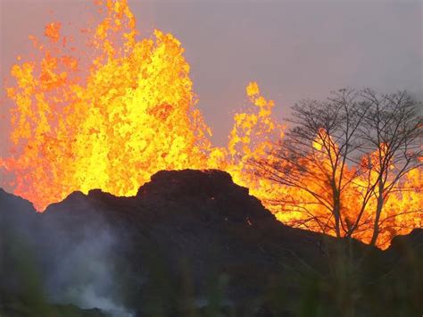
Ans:
{"label": "dark black ridge silhouetted below the lava, spanning the whole foreground", "polygon": [[222,171],[160,171],[135,197],[77,192],[45,213],[0,190],[0,238],[2,317],[423,313],[422,229],[381,251],[286,227]]}

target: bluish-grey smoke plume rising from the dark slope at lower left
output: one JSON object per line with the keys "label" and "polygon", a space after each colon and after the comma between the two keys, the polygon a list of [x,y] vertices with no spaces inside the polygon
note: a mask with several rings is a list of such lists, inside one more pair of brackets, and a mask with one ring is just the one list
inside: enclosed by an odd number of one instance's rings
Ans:
{"label": "bluish-grey smoke plume rising from the dark slope at lower left", "polygon": [[117,238],[111,229],[98,228],[99,223],[95,227],[85,228],[81,239],[62,254],[54,251],[60,255],[54,259],[53,270],[47,272],[49,297],[55,303],[96,307],[112,316],[132,316],[115,292],[119,282],[113,262],[119,247]]}

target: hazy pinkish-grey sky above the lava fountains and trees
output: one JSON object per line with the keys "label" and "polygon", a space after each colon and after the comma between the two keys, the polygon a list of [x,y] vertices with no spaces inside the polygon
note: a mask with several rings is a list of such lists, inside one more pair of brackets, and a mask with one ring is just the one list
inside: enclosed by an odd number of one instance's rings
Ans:
{"label": "hazy pinkish-grey sky above the lava fountains and trees", "polygon": [[[78,25],[82,1],[0,0],[1,71],[29,50],[48,21]],[[277,115],[304,97],[351,87],[406,88],[423,96],[421,1],[129,0],[138,29],[173,33],[186,48],[195,92],[213,140],[223,145],[245,85],[259,82]],[[54,13],[49,13],[51,10]],[[59,18],[59,19],[58,19]],[[2,90],[4,85],[2,83]],[[4,113],[3,107],[0,115]],[[4,128],[4,121],[0,121]],[[4,134],[0,154],[4,151]]]}

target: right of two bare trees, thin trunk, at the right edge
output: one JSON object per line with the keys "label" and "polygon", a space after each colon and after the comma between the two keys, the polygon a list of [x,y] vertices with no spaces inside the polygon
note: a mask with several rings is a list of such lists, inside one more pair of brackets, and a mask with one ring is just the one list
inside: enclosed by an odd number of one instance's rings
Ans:
{"label": "right of two bare trees, thin trunk, at the right edge", "polygon": [[365,141],[361,151],[368,156],[365,168],[369,174],[369,188],[377,199],[370,241],[375,245],[389,194],[408,172],[422,165],[423,121],[419,116],[422,104],[406,91],[379,96],[364,89],[361,96],[366,109],[359,128],[360,137]]}

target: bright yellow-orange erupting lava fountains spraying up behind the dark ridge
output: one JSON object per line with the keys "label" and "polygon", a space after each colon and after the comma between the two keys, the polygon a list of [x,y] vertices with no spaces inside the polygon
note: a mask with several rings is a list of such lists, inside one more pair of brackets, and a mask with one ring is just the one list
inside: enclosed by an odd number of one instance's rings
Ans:
{"label": "bright yellow-orange erupting lava fountains spraying up behind the dark ridge", "polygon": [[[73,46],[75,38],[62,35],[60,22],[53,22],[44,40],[30,37],[36,56],[12,67],[16,84],[6,89],[14,104],[12,157],[0,159],[0,168],[13,176],[14,193],[42,211],[76,190],[133,196],[156,171],[216,168],[250,188],[280,221],[321,231],[303,221],[306,193],[262,179],[246,164],[283,138],[283,126],[271,116],[274,103],[261,96],[258,85],[246,88],[252,107],[236,113],[228,146],[212,146],[178,39],[158,29],[151,38],[140,38],[126,0],[96,4],[103,20],[81,31],[87,38],[83,51]],[[411,172],[402,186],[418,185],[420,172]],[[351,188],[351,195],[357,190]],[[292,197],[297,212],[274,204],[283,195]],[[390,197],[379,246],[421,225],[415,214],[392,217],[416,210],[419,199],[411,191]],[[349,201],[344,208],[353,213]],[[319,206],[315,213],[322,213]],[[356,238],[369,241],[371,217],[363,217]]]}

